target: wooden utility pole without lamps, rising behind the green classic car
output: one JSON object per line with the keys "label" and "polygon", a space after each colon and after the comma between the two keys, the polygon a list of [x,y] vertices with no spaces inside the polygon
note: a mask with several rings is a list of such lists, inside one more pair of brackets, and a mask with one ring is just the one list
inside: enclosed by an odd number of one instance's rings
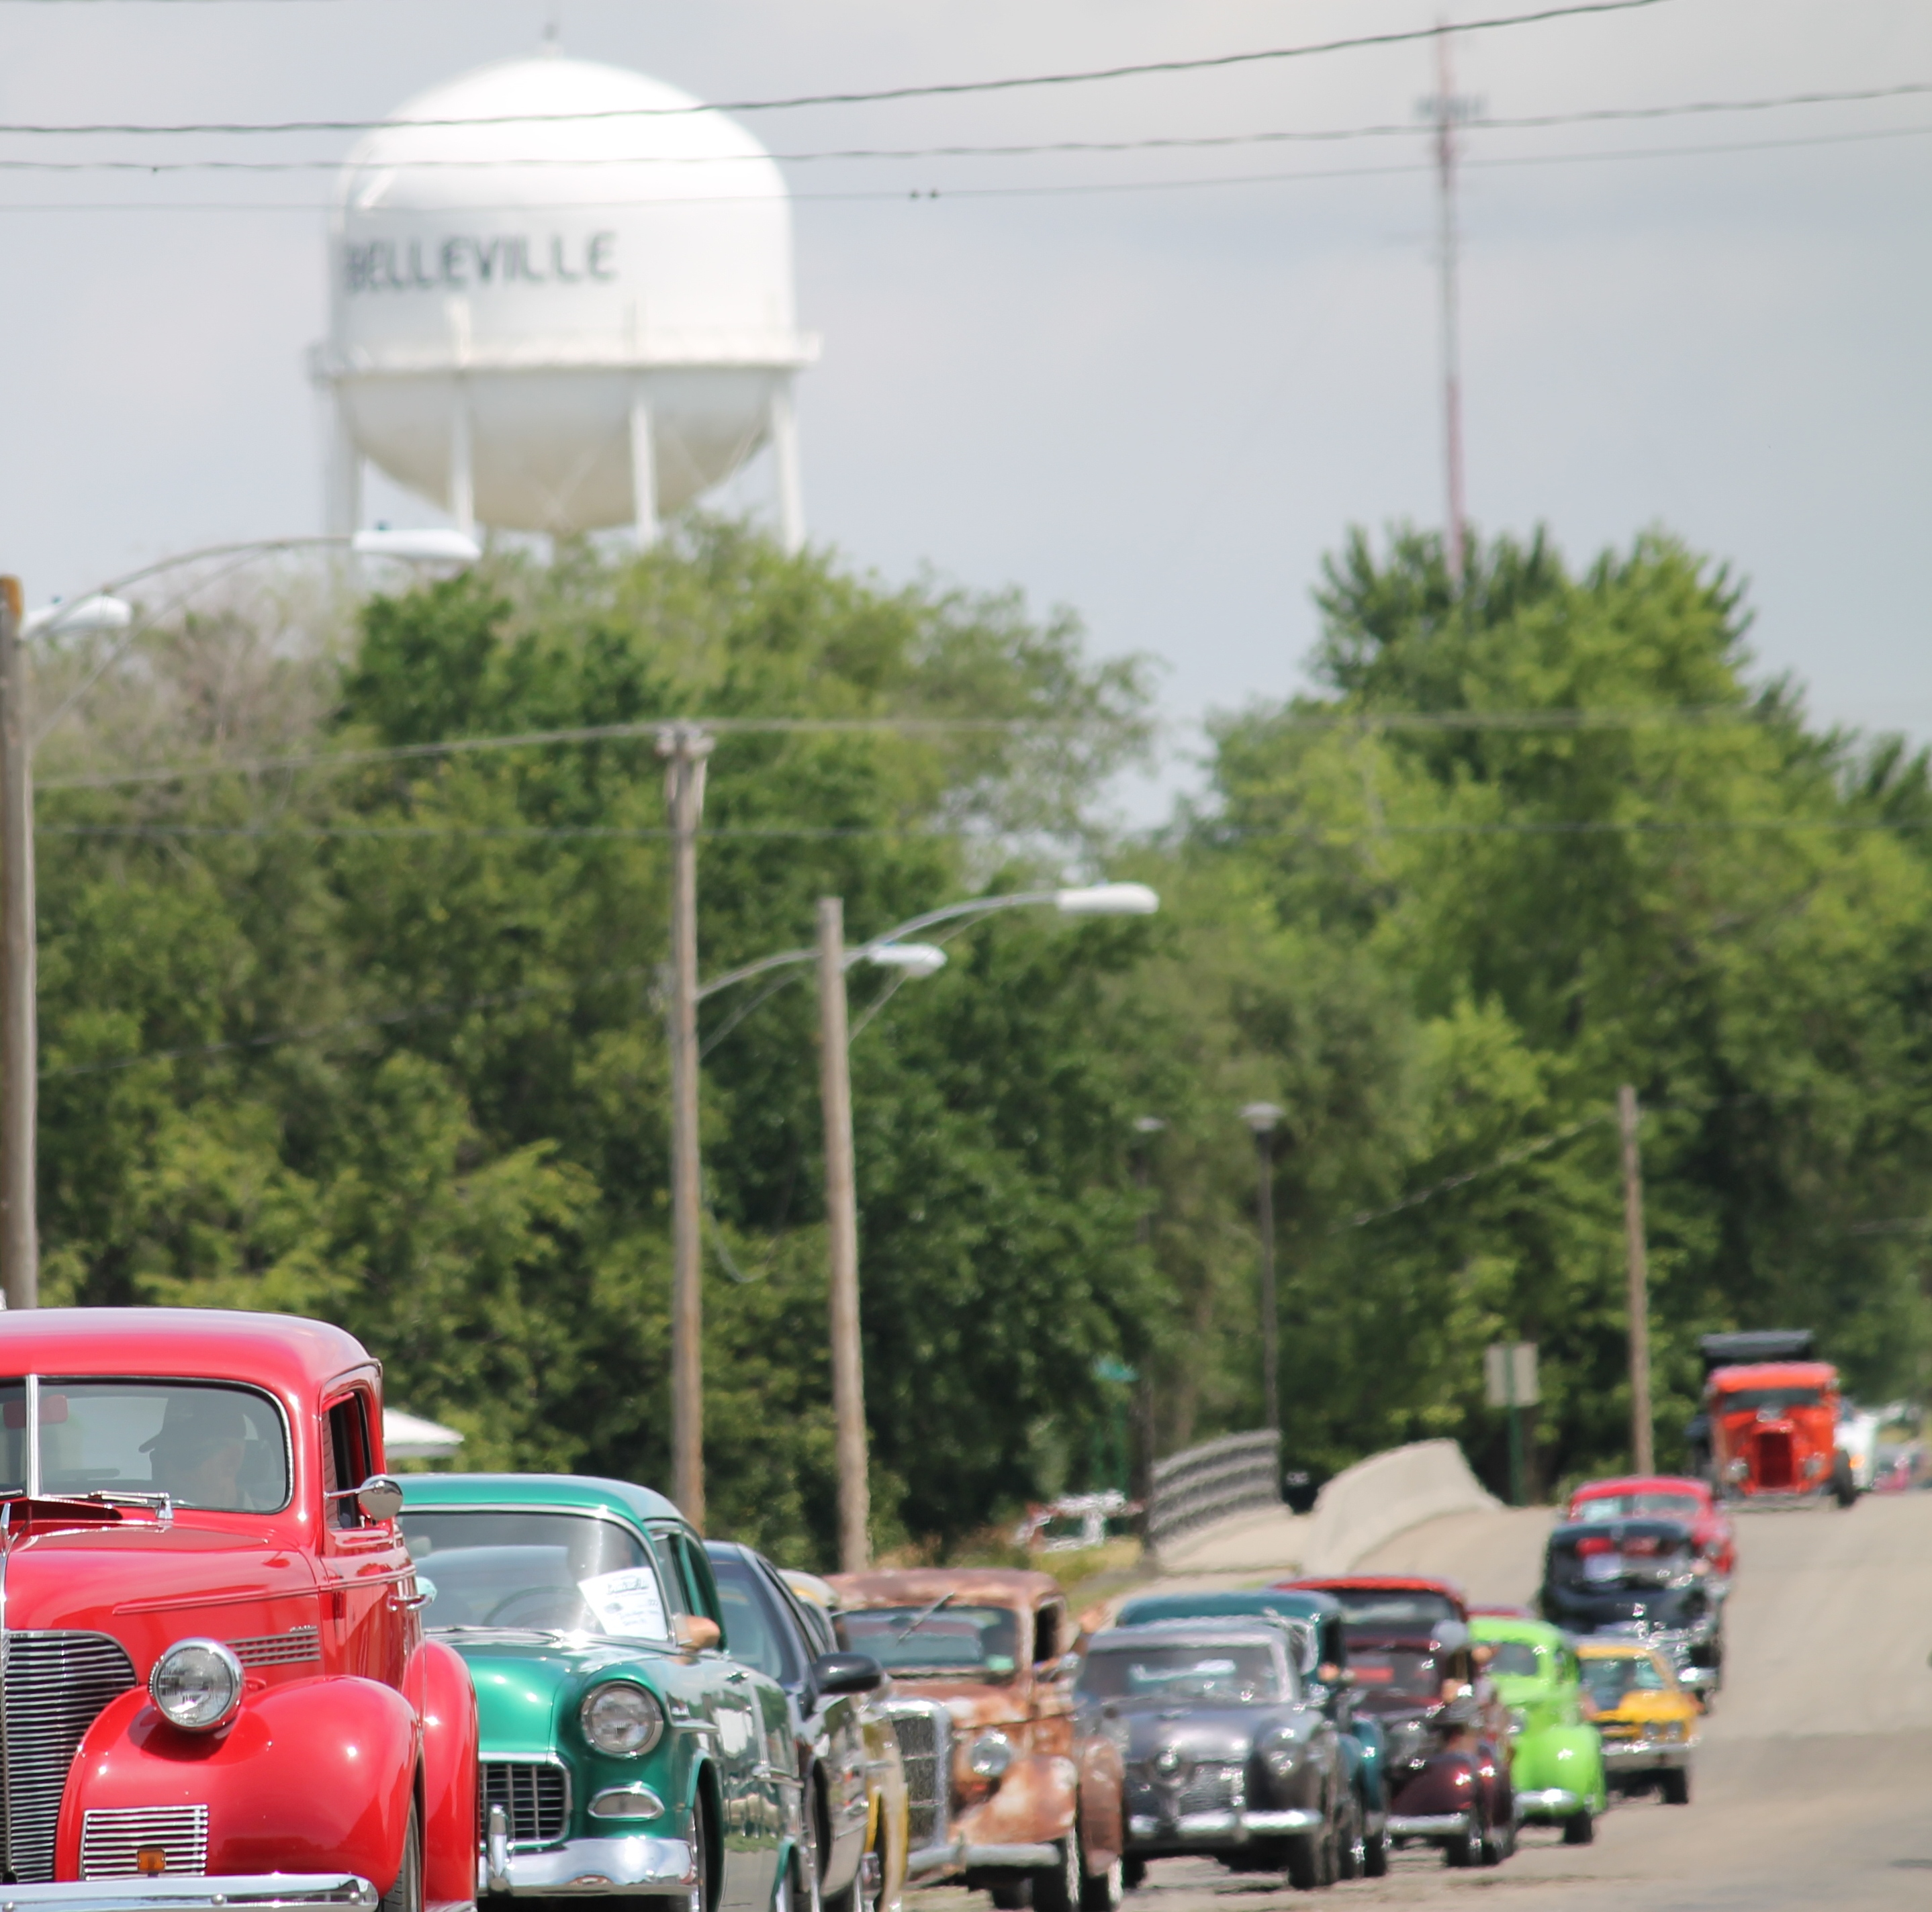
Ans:
{"label": "wooden utility pole without lamps, rising behind the green classic car", "polygon": [[697,825],[711,738],[657,734],[670,813],[670,1495],[705,1526],[703,1188],[697,1163]]}

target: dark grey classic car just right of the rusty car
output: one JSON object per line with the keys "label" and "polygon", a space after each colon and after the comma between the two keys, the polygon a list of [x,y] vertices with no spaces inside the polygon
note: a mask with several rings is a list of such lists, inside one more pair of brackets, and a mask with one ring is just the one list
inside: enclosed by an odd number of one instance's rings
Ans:
{"label": "dark grey classic car just right of the rusty car", "polygon": [[1364,1866],[1335,1723],[1273,1620],[1157,1620],[1095,1634],[1080,1696],[1126,1763],[1126,1858],[1194,1854],[1306,1891]]}

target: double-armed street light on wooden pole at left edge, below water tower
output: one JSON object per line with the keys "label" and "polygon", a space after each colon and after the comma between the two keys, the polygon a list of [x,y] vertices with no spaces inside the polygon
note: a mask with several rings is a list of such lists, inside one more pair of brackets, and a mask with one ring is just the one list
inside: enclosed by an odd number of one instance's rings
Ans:
{"label": "double-armed street light on wooden pole at left edge, below water tower", "polygon": [[33,749],[27,734],[25,637],[120,637],[91,676],[41,728],[46,734],[141,635],[118,593],[160,572],[205,558],[249,560],[274,550],[346,548],[408,564],[473,564],[483,552],[460,531],[357,531],[350,537],[284,537],[209,545],[158,558],[73,603],[27,610],[17,577],[0,577],[0,1284],[8,1307],[41,1302],[41,1230],[35,1215],[41,1035],[35,1004]]}

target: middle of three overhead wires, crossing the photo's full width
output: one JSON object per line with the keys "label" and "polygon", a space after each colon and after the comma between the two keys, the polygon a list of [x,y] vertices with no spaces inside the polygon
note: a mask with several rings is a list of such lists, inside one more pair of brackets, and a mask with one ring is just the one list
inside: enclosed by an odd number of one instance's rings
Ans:
{"label": "middle of three overhead wires, crossing the photo's full width", "polygon": [[[1870,104],[1876,100],[1918,98],[1932,93],[1932,81],[1909,81],[1895,87],[1855,87],[1841,93],[1779,93],[1743,100],[1683,100],[1669,106],[1592,106],[1577,112],[1542,112],[1515,116],[1476,114],[1457,122],[1463,131],[1540,131],[1559,126],[1598,126],[1648,120],[1708,118],[1729,112],[1774,112],[1791,106]],[[945,145],[945,147],[827,147],[810,153],[769,153],[765,158],[788,166],[825,160],[933,160],[933,158],[1039,158],[1051,155],[1092,153],[1186,153],[1223,151],[1229,147],[1265,145],[1333,145],[1356,139],[1414,139],[1414,122],[1374,122],[1370,126],[1277,127],[1260,133],[1177,133],[1134,139],[1036,139],[1010,145]],[[514,166],[522,170],[580,170],[599,172],[616,166],[744,166],[752,156],[742,153],[701,153],[692,156],[672,153],[639,153],[636,156],[556,158],[529,155],[527,158],[419,158],[410,160],[412,172],[489,172]],[[0,172],[340,172],[340,158],[301,160],[23,160],[0,158]],[[593,201],[595,203],[595,201]],[[469,209],[473,211],[473,209]]]}

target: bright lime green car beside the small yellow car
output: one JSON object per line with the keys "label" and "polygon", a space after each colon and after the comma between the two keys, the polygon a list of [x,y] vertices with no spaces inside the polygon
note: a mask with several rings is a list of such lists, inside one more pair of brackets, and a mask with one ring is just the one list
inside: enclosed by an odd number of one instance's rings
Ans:
{"label": "bright lime green car beside the small yellow car", "polygon": [[1609,1806],[1604,1742],[1582,1715],[1582,1669],[1569,1640],[1544,1620],[1480,1615],[1470,1638],[1490,1649],[1490,1678],[1509,1707],[1509,1783],[1517,1817],[1561,1825],[1563,1844],[1596,1839]]}

